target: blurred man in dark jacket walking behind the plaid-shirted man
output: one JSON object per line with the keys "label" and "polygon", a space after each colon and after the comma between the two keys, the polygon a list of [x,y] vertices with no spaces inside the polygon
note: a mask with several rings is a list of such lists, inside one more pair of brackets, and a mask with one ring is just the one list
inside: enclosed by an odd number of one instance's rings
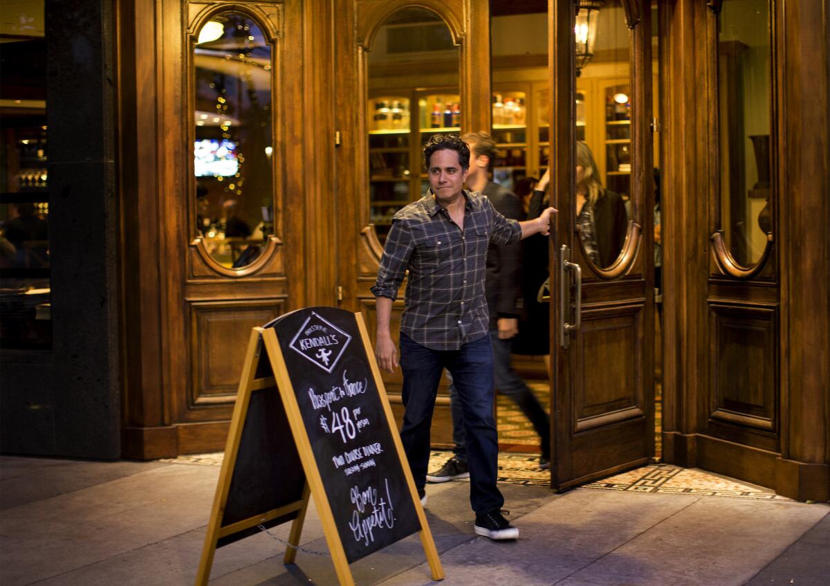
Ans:
{"label": "blurred man in dark jacket walking behind the plaid-shirted man", "polygon": [[[490,199],[493,208],[505,217],[525,219],[522,202],[515,193],[493,183],[489,179],[491,161],[496,155],[496,143],[489,134],[477,132],[465,134],[461,139],[470,147],[470,173],[467,186],[473,192],[481,192]],[[493,368],[496,390],[509,397],[525,413],[540,436],[542,456],[540,468],[550,466],[550,422],[539,399],[510,365],[513,338],[519,333],[519,315],[522,312],[522,256],[520,242],[507,246],[491,243],[487,249],[485,295],[490,313],[490,338],[493,345]],[[427,481],[446,482],[469,476],[466,462],[464,418],[461,406],[450,385],[452,406],[453,457],[438,471],[427,474]]]}

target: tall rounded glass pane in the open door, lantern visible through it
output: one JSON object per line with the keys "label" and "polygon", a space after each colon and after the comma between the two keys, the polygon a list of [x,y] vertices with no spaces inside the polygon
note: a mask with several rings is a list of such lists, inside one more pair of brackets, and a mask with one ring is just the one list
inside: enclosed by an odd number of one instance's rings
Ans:
{"label": "tall rounded glass pane in the open door, lantern visible through it", "polygon": [[[586,100],[583,90],[576,95],[574,210],[585,256],[606,268],[623,251],[631,193],[631,34],[622,2],[582,2],[575,34],[580,37],[579,83],[597,90],[592,94],[593,102]],[[596,132],[588,132],[585,125],[588,108],[602,113],[602,127]]]}

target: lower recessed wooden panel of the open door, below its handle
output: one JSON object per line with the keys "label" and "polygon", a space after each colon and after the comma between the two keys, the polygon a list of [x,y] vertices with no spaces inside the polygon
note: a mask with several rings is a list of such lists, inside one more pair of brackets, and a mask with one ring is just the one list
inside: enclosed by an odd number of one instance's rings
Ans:
{"label": "lower recessed wooden panel of the open door, below its handle", "polygon": [[574,381],[575,431],[611,419],[642,417],[642,317],[642,305],[583,311]]}

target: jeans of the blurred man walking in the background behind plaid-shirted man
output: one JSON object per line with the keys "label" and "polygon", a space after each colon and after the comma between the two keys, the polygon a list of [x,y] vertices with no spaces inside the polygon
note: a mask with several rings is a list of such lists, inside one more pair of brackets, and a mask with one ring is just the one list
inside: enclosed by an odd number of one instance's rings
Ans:
{"label": "jeans of the blurred man walking in the background behind plaid-shirted man", "polygon": [[[493,363],[496,376],[496,389],[499,393],[509,397],[525,417],[533,424],[540,437],[542,457],[550,459],[550,419],[545,413],[539,399],[536,398],[530,387],[516,374],[510,365],[510,349],[512,339],[499,339],[499,330],[490,330],[490,339],[493,344]],[[464,432],[464,413],[458,404],[455,384],[450,383],[450,402],[452,406],[452,442],[455,446],[452,452],[459,461],[467,461],[466,433]]]}

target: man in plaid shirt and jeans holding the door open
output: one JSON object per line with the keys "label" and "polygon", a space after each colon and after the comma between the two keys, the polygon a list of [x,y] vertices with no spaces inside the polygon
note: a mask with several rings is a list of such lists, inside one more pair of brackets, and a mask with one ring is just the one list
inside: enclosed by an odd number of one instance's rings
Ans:
{"label": "man in plaid shirt and jeans holding the door open", "polygon": [[423,159],[430,191],[393,217],[372,287],[378,312],[375,355],[387,372],[398,366],[389,318],[409,271],[400,336],[405,409],[401,440],[418,494],[426,504],[432,410],[446,368],[464,413],[476,534],[513,540],[519,530],[501,515],[505,500],[496,486],[499,447],[484,290],[487,246],[548,234],[556,210],[548,208],[540,217],[517,222],[496,212],[486,196],[466,191],[470,149],[454,134],[432,136]]}

